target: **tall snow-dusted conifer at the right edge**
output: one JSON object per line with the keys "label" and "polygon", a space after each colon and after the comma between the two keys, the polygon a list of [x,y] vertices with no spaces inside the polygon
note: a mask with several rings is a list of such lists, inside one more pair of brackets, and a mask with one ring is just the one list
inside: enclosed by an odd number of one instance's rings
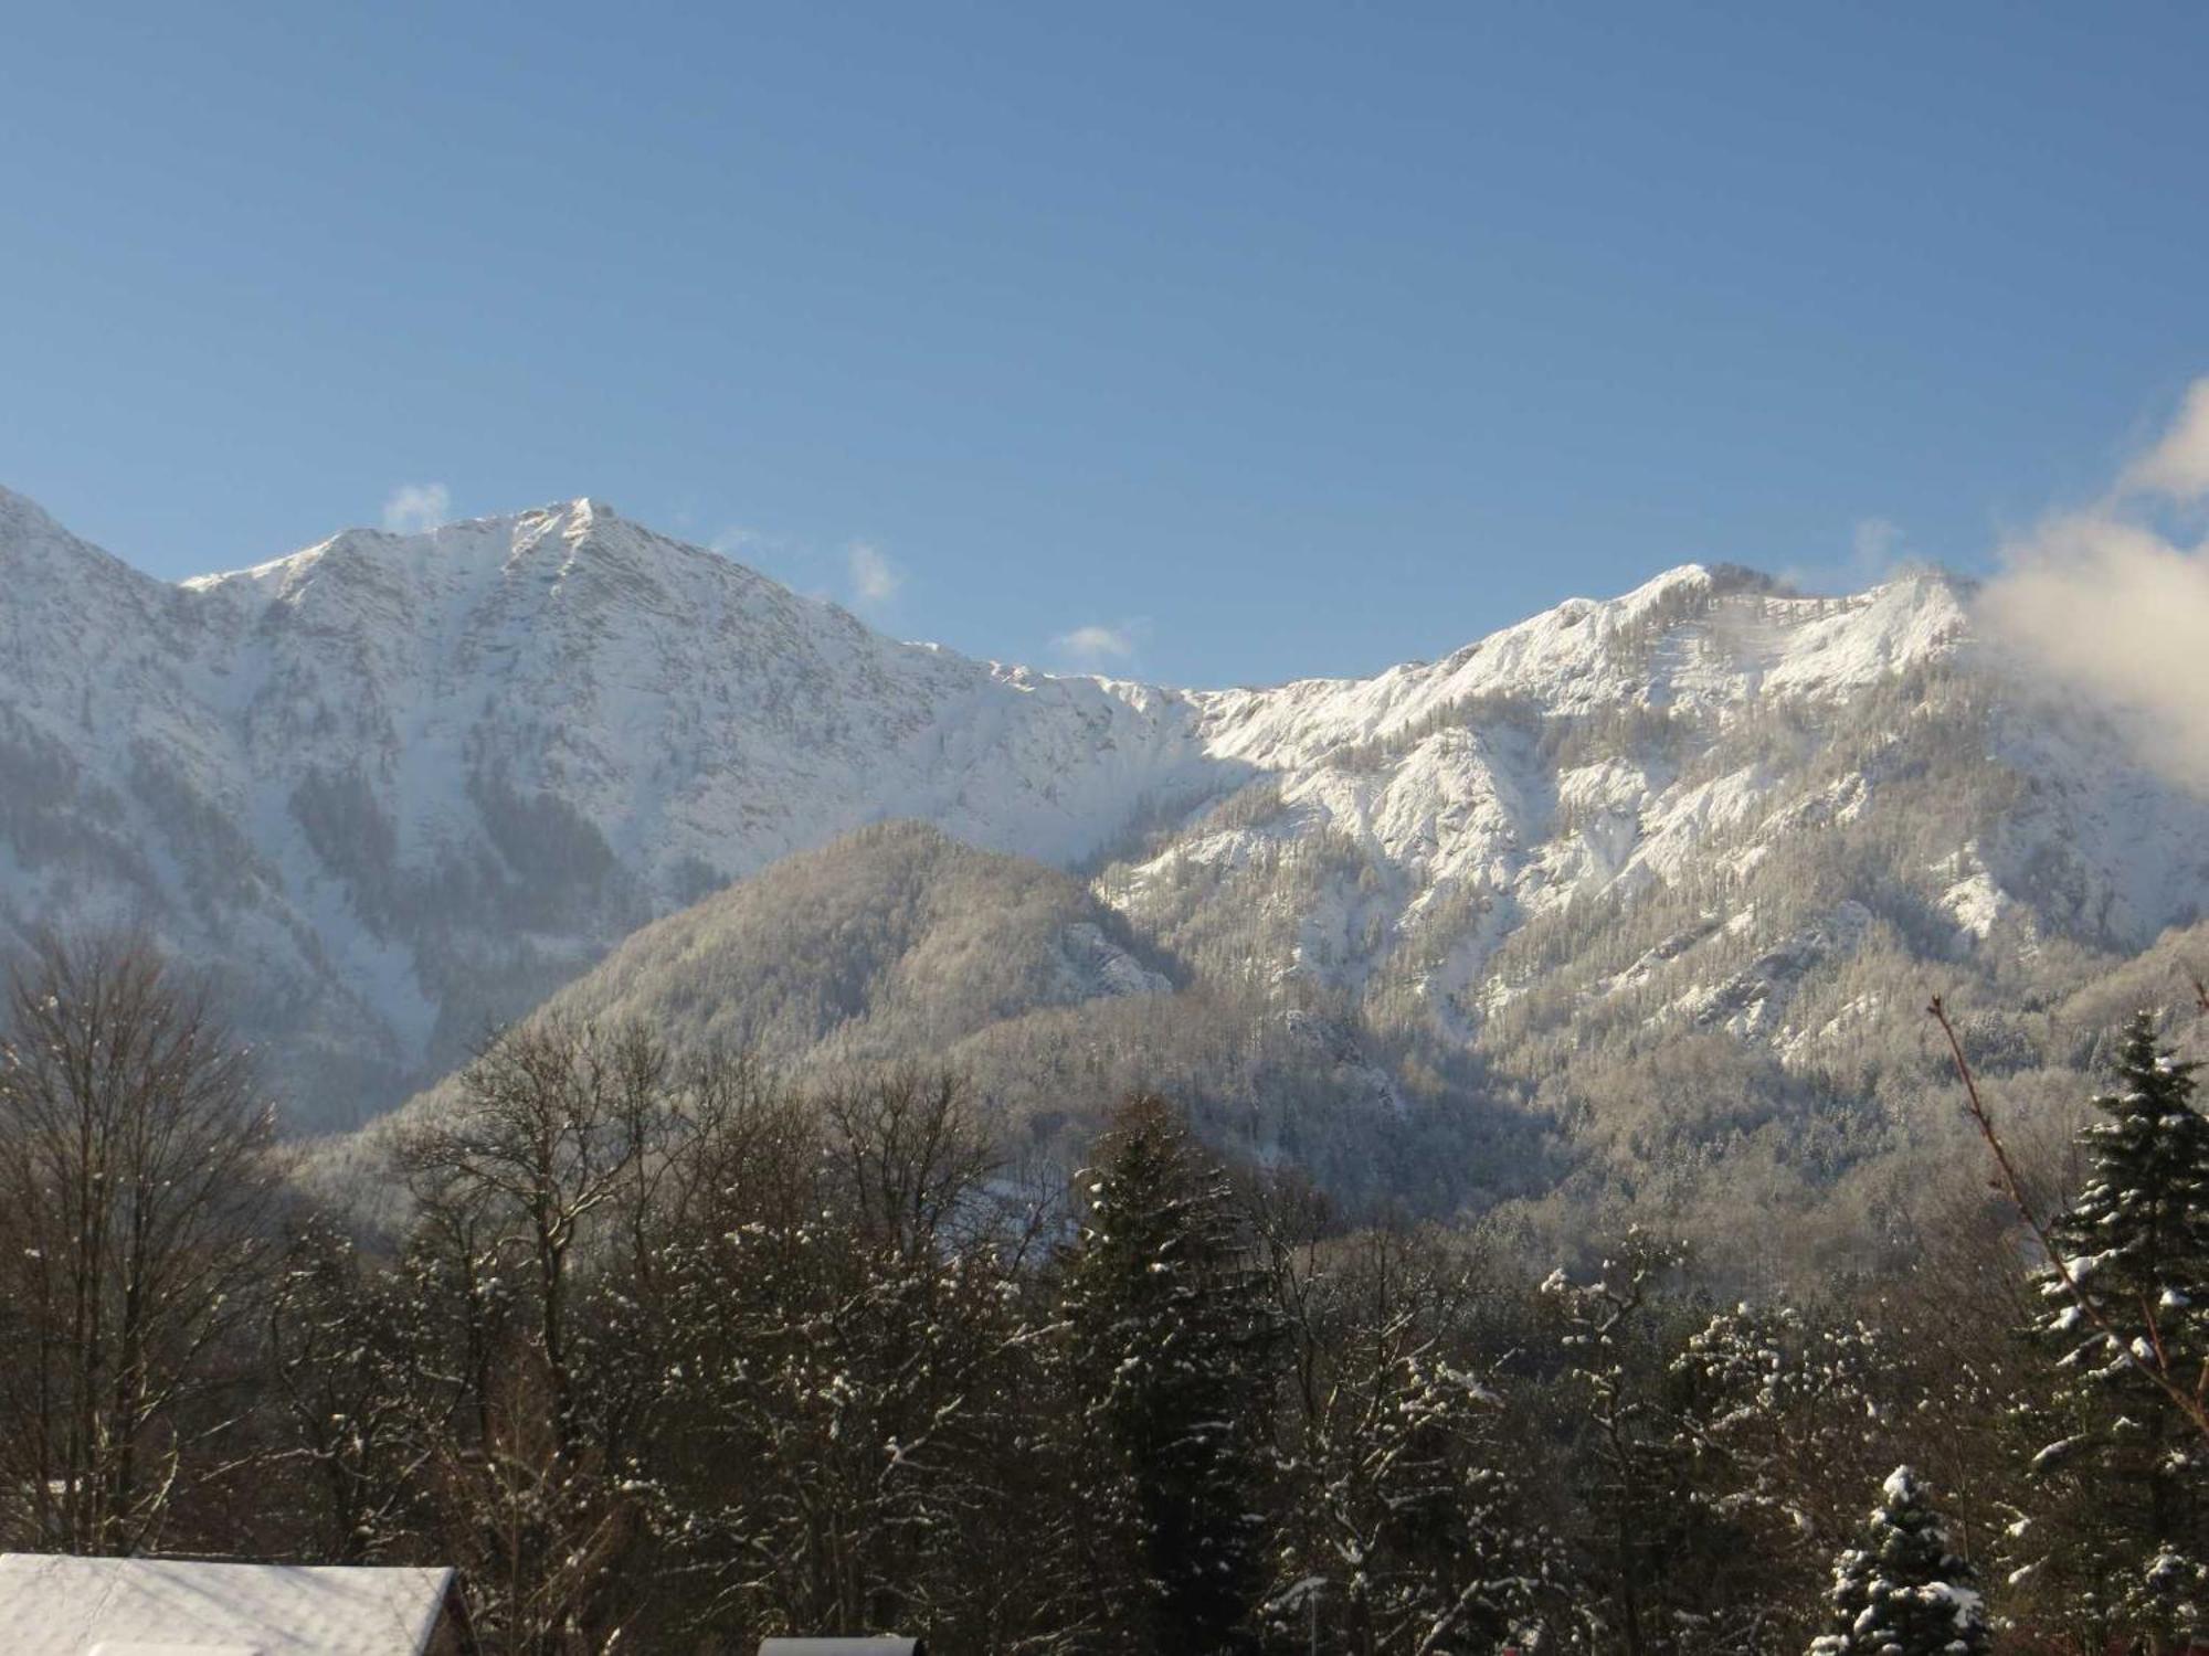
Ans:
{"label": "tall snow-dusted conifer at the right edge", "polygon": [[2160,1384],[2194,1393],[2209,1360],[2209,1119],[2189,1102],[2196,1064],[2158,1044],[2149,1013],[2132,1018],[2116,1069],[2079,1137],[2088,1183],[2050,1225],[2054,1442],[2034,1457],[2043,1499],[2023,1535],[2037,1588],[2090,1641],[2171,1645],[2200,1625],[2209,1581],[2209,1457]]}

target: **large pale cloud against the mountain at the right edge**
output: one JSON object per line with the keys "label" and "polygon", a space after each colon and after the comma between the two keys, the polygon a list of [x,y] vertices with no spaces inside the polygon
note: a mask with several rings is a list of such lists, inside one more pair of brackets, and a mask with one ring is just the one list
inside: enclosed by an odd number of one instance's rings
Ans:
{"label": "large pale cloud against the mountain at the right edge", "polygon": [[2209,501],[2209,378],[2085,510],[2004,548],[1979,598],[1988,636],[2132,722],[2145,760],[2209,790],[2209,541],[2174,519]]}

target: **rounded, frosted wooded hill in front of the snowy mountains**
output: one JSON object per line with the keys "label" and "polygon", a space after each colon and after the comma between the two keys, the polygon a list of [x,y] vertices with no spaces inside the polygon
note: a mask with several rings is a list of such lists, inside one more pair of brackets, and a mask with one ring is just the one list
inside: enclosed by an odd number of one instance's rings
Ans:
{"label": "rounded, frosted wooded hill in front of the snowy mountains", "polygon": [[[641,1022],[678,1058],[751,1051],[800,1086],[941,1064],[1010,1157],[1058,1168],[1113,1104],[1164,1089],[1215,1144],[1374,1206],[1451,1206],[1478,1117],[1409,1097],[1350,1025],[1184,983],[1078,877],[917,821],[859,828],[645,925],[532,1018]],[[316,1188],[382,1190],[382,1157],[457,1095],[448,1075],[314,1146]],[[1440,1166],[1423,1157],[1438,1142],[1456,1150]]]}

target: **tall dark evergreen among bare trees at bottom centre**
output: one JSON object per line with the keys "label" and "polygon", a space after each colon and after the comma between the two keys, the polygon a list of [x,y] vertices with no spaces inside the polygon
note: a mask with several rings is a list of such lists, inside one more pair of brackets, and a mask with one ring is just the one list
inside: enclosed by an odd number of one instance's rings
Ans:
{"label": "tall dark evergreen among bare trees at bottom centre", "polygon": [[1162,1100],[1120,1111],[1085,1192],[1065,1323],[1085,1501],[1120,1577],[1098,1583],[1107,1634],[1160,1656],[1250,1649],[1279,1351],[1264,1278],[1226,1177]]}

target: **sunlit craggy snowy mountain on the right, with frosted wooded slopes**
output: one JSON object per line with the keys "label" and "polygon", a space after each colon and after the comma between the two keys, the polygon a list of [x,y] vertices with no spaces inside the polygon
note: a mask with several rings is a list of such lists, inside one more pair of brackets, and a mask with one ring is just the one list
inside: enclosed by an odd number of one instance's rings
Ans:
{"label": "sunlit craggy snowy mountain on the right, with frosted wooded slopes", "polygon": [[1966,598],[1679,570],[1436,667],[1204,698],[1264,775],[1098,885],[1197,980],[1261,974],[1467,1128],[1515,1117],[1500,1166],[1427,1159],[1544,1248],[1621,1203],[1860,1230],[1968,1148],[1931,991],[2034,1119],[2083,1097],[2081,1009],[2182,1007],[2171,960],[2209,965],[2209,802],[1986,658]]}

